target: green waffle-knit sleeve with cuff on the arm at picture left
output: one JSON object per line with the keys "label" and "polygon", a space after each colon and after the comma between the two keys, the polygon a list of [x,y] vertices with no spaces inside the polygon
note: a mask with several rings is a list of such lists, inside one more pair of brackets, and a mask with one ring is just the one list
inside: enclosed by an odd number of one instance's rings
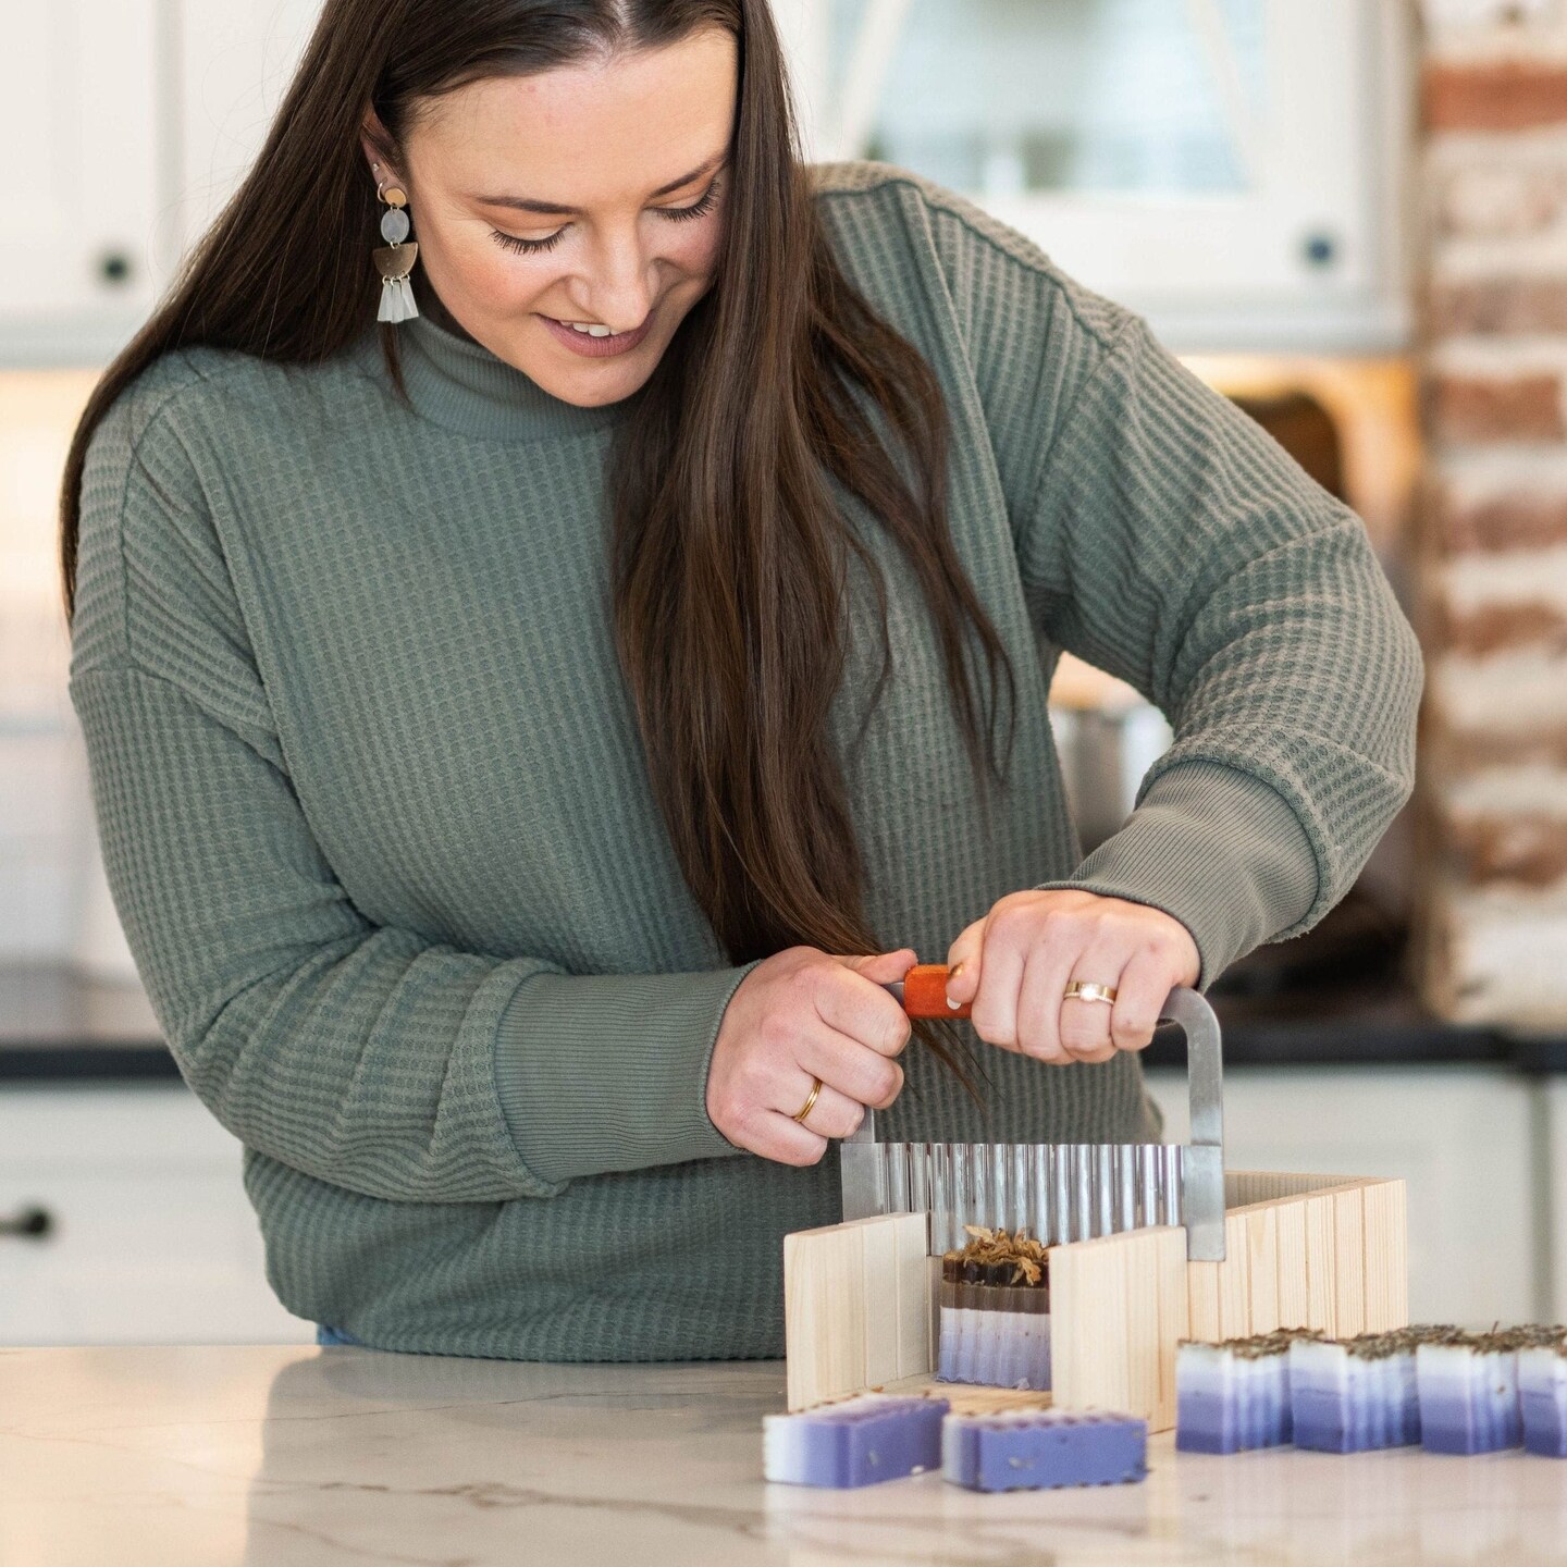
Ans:
{"label": "green waffle-knit sleeve with cuff on the arm at picture left", "polygon": [[570,975],[354,907],[161,420],[116,404],[94,436],[77,581],[71,700],[110,890],[185,1080],[246,1145],[415,1202],[740,1152],[705,1084],[754,964]]}

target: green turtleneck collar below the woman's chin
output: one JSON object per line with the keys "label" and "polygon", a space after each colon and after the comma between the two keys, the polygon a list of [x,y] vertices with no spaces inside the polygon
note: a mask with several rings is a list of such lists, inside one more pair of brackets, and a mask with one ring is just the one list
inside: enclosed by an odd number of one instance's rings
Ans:
{"label": "green turtleneck collar below the woman's chin", "polygon": [[[398,326],[403,379],[414,407],[448,429],[484,440],[584,436],[621,423],[636,396],[578,407],[480,343],[456,337],[428,315]],[[376,359],[381,356],[370,334]]]}

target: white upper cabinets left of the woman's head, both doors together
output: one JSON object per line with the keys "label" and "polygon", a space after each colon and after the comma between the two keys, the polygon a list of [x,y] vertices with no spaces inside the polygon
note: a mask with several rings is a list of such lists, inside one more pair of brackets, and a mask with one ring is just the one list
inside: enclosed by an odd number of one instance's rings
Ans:
{"label": "white upper cabinets left of the woman's head, both doors together", "polygon": [[[0,8],[0,365],[102,365],[254,160],[320,0]],[[367,237],[365,244],[373,237]]]}

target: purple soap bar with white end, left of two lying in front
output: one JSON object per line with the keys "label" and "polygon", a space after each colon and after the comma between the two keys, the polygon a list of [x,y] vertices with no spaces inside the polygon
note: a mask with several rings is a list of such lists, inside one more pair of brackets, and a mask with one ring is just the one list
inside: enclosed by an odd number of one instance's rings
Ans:
{"label": "purple soap bar with white end, left of two lying in front", "polygon": [[843,1490],[939,1468],[948,1407],[945,1398],[860,1393],[798,1415],[763,1415],[763,1478]]}

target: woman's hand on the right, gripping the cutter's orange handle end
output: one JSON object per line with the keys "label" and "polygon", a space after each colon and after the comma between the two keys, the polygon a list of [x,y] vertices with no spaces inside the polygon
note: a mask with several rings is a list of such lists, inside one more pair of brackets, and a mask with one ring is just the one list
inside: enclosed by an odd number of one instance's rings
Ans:
{"label": "woman's hand on the right, gripping the cutter's orange handle end", "polygon": [[[1059,888],[998,898],[946,964],[948,1000],[973,1003],[981,1039],[1053,1066],[1141,1050],[1171,989],[1202,972],[1191,932],[1161,909]],[[1075,979],[1111,987],[1114,1004],[1067,998]]]}

